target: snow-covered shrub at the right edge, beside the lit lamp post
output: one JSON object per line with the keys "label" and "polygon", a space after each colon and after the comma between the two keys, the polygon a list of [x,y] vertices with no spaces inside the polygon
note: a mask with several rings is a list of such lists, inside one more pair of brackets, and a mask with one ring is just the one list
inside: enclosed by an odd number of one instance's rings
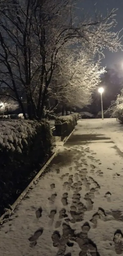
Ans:
{"label": "snow-covered shrub at the right edge, beside the lit lamp post", "polygon": [[118,94],[116,101],[112,101],[110,107],[106,111],[111,117],[116,117],[120,124],[123,124],[123,89]]}

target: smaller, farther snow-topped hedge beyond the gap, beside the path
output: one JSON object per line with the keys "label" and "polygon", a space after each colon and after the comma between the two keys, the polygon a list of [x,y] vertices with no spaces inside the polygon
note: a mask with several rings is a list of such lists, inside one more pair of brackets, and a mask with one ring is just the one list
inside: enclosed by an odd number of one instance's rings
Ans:
{"label": "smaller, farther snow-topped hedge beyond the gap, beside the path", "polygon": [[74,113],[68,116],[60,116],[60,117],[56,117],[55,120],[55,126],[56,126],[56,132],[57,129],[61,129],[61,125],[57,125],[57,124],[63,124],[64,122],[67,123],[67,125],[64,125],[64,128],[67,129],[66,133],[70,134],[74,127],[77,125],[77,120],[78,120],[78,113]]}

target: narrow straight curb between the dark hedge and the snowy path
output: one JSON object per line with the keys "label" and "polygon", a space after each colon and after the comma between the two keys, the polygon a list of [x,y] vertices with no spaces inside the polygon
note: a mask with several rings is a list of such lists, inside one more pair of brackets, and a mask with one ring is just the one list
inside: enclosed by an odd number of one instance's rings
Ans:
{"label": "narrow straight curb between the dark hedge and the snowy path", "polygon": [[[74,129],[75,130],[75,129]],[[69,134],[68,137],[63,139],[63,145],[64,143],[71,137],[71,135],[73,134],[74,130]],[[11,209],[8,209],[9,211],[9,215],[11,215],[11,213],[14,211],[15,207],[17,206],[17,204],[20,203],[20,201],[26,196],[27,192],[29,191],[31,186],[34,186],[34,182],[36,182],[36,180],[42,175],[42,173],[45,171],[45,169],[47,168],[47,166],[51,163],[51,161],[53,160],[53,158],[58,154],[58,151],[60,150],[60,146],[57,147],[56,151],[53,153],[52,157],[49,158],[49,160],[46,162],[46,164],[42,167],[42,169],[37,173],[37,175],[33,178],[33,180],[30,182],[30,184],[24,189],[24,191],[20,194],[20,196],[16,199],[16,201],[13,203],[13,205],[11,206]],[[36,185],[36,184],[35,184]],[[1,217],[0,217],[0,222],[2,222],[2,220],[4,219],[5,215],[8,212],[5,212]],[[6,218],[5,218],[6,219]],[[0,223],[0,225],[2,225],[2,223]]]}

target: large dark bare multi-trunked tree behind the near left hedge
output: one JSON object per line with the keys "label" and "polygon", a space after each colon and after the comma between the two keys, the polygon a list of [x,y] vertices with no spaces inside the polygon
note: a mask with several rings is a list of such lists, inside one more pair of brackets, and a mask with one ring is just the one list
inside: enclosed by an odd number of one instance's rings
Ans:
{"label": "large dark bare multi-trunked tree behind the near left hedge", "polygon": [[[112,51],[121,48],[119,33],[111,32],[116,25],[114,10],[107,13],[107,17],[96,16],[96,20],[94,17],[78,22],[74,9],[72,0],[1,2],[0,83],[1,88],[8,87],[9,96],[18,101],[24,118],[22,94],[27,102],[29,118],[42,118],[54,70],[64,51],[73,47],[74,58],[78,44],[85,54],[86,49],[97,54],[105,47]],[[79,60],[78,63],[81,65]],[[75,87],[79,84],[77,79],[79,74],[76,72],[73,79]]]}

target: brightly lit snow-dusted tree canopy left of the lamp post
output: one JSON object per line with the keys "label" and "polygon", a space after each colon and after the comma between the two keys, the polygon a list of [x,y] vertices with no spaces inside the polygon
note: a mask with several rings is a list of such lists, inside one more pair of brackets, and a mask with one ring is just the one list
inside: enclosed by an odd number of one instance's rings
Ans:
{"label": "brightly lit snow-dusted tree canopy left of the lamp post", "polygon": [[68,106],[83,107],[91,103],[91,94],[99,85],[100,75],[105,72],[89,49],[78,54],[67,52],[54,70],[49,95]]}

